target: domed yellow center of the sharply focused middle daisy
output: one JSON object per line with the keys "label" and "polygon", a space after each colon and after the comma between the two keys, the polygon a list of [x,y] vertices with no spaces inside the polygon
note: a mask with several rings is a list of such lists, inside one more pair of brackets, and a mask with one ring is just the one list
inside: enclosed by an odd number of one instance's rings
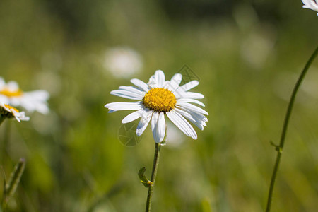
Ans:
{"label": "domed yellow center of the sharply focused middle daisy", "polygon": [[158,112],[169,112],[176,103],[175,95],[165,88],[152,88],[143,97],[143,105]]}

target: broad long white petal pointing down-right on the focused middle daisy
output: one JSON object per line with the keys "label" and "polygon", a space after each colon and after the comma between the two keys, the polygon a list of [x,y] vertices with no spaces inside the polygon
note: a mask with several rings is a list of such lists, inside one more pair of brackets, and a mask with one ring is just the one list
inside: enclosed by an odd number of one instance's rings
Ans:
{"label": "broad long white petal pointing down-right on the focused middle daisy", "polygon": [[167,112],[167,117],[175,124],[181,131],[183,131],[184,134],[186,134],[189,137],[192,137],[192,139],[197,139],[196,131],[194,131],[193,127],[187,122],[184,117],[182,117],[181,114],[178,112],[175,112],[174,110],[171,110],[170,112]]}

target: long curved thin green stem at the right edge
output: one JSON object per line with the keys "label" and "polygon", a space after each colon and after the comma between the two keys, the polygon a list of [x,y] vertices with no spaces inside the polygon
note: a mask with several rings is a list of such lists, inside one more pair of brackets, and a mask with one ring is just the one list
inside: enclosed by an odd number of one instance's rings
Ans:
{"label": "long curved thin green stem at the right edge", "polygon": [[281,154],[283,153],[283,146],[284,146],[284,143],[285,143],[285,136],[286,136],[286,132],[287,132],[287,128],[288,128],[290,114],[291,114],[291,112],[293,110],[295,97],[296,97],[296,94],[298,92],[298,89],[300,88],[300,84],[302,83],[302,81],[303,81],[303,79],[304,79],[304,77],[305,77],[305,75],[307,73],[307,70],[310,68],[310,65],[312,64],[312,61],[314,61],[314,59],[317,57],[317,54],[318,54],[318,47],[317,47],[317,49],[314,50],[314,53],[312,54],[310,59],[307,61],[307,64],[305,65],[305,68],[302,70],[302,73],[300,73],[298,81],[296,82],[295,87],[293,89],[293,93],[290,96],[287,112],[285,114],[285,121],[283,123],[283,130],[281,132],[281,142],[279,143],[279,146],[276,146],[276,151],[277,151],[276,163],[275,163],[275,166],[273,168],[273,174],[271,176],[271,185],[269,187],[269,196],[268,196],[268,199],[267,199],[266,212],[271,211],[271,199],[273,197],[273,189],[274,189],[274,186],[275,186],[275,181],[276,181],[276,176],[277,176],[277,172],[278,172],[278,167],[279,167],[279,164],[281,162]]}

